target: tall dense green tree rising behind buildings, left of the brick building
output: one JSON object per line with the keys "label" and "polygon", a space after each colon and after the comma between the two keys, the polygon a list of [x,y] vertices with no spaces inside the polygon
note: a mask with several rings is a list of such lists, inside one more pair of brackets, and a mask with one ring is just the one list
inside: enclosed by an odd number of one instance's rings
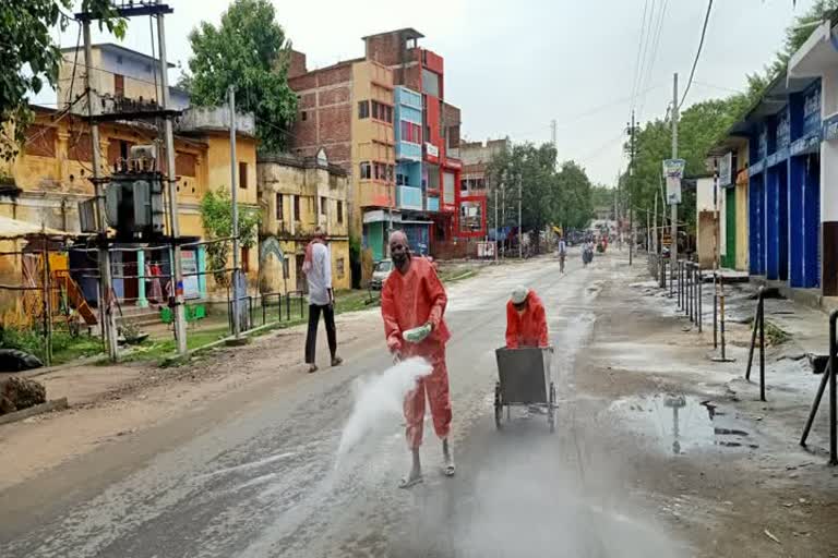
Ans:
{"label": "tall dense green tree rising behind buildings, left of the brick building", "polygon": [[256,118],[260,148],[282,150],[297,114],[297,95],[288,87],[290,43],[275,21],[268,0],[235,0],[218,27],[202,22],[189,35],[191,74],[179,83],[192,104],[219,106],[230,85],[236,106]]}

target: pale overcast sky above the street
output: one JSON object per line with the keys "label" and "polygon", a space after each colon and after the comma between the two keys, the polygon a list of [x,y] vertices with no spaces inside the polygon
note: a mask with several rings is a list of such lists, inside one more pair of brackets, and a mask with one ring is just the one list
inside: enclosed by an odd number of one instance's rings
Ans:
{"label": "pale overcast sky above the street", "polygon": [[[686,105],[744,88],[745,73],[771,59],[783,28],[812,1],[798,0],[794,8],[792,0],[716,0]],[[202,20],[217,24],[228,0],[168,3],[175,8],[166,19],[169,59],[185,66],[189,32]],[[666,11],[637,87],[645,92],[635,101],[641,121],[665,114],[673,72],[683,90],[707,8],[704,0],[424,0],[416,10],[394,0],[274,4],[309,68],[362,56],[364,35],[415,27],[426,36],[420,44],[445,59],[446,100],[463,110],[464,136],[547,142],[555,119],[560,159],[577,160],[592,181],[607,184],[625,166],[620,144],[644,8],[647,20],[654,9],[654,28]],[[94,40],[110,39],[97,33]],[[74,41],[72,28],[61,37],[62,46]],[[151,53],[147,19],[131,23],[123,45]]]}

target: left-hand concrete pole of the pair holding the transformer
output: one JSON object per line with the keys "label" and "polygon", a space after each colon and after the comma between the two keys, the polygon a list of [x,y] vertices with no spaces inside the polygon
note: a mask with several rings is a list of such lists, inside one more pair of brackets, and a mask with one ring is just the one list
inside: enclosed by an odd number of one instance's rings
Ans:
{"label": "left-hand concrete pole of the pair holding the transformer", "polygon": [[91,142],[93,143],[93,191],[96,197],[96,228],[99,232],[99,281],[101,282],[101,329],[105,336],[105,344],[108,349],[108,357],[116,362],[119,357],[119,344],[117,342],[117,323],[113,315],[112,281],[110,276],[110,248],[108,247],[108,223],[105,220],[105,192],[101,187],[101,151],[99,144],[99,124],[93,117],[99,113],[99,104],[93,98],[91,90],[91,73],[93,72],[93,46],[91,43],[91,21],[83,23],[84,33],[84,87],[87,90],[87,114],[91,117]]}

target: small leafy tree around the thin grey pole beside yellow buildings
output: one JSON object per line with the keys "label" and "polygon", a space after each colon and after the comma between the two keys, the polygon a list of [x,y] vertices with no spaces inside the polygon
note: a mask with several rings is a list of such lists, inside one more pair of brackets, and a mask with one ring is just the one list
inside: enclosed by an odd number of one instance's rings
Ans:
{"label": "small leafy tree around the thin grey pole beside yellow buildings", "polygon": [[[239,204],[239,239],[241,247],[253,246],[258,240],[259,223],[262,216],[259,211]],[[232,199],[225,187],[217,192],[210,191],[201,199],[201,225],[207,240],[228,239],[232,235]],[[225,271],[230,258],[232,243],[229,241],[206,244],[206,255],[213,278],[219,287],[229,287],[230,276]]]}

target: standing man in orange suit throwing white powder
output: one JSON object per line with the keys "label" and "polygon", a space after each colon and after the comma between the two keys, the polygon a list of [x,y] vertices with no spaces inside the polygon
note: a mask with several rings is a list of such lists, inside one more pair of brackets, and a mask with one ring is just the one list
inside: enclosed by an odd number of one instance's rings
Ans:
{"label": "standing man in orange suit throwing white powder", "polygon": [[407,236],[395,231],[390,236],[390,257],[396,269],[390,274],[381,291],[381,315],[387,348],[397,360],[422,356],[432,366],[429,376],[405,398],[407,444],[414,463],[399,486],[409,488],[422,482],[419,446],[422,444],[426,393],[433,417],[433,428],[442,439],[443,473],[454,475],[454,459],[448,445],[451,397],[448,371],[445,367],[445,343],[451,333],[443,319],[447,296],[433,265],[423,257],[412,257]]}

